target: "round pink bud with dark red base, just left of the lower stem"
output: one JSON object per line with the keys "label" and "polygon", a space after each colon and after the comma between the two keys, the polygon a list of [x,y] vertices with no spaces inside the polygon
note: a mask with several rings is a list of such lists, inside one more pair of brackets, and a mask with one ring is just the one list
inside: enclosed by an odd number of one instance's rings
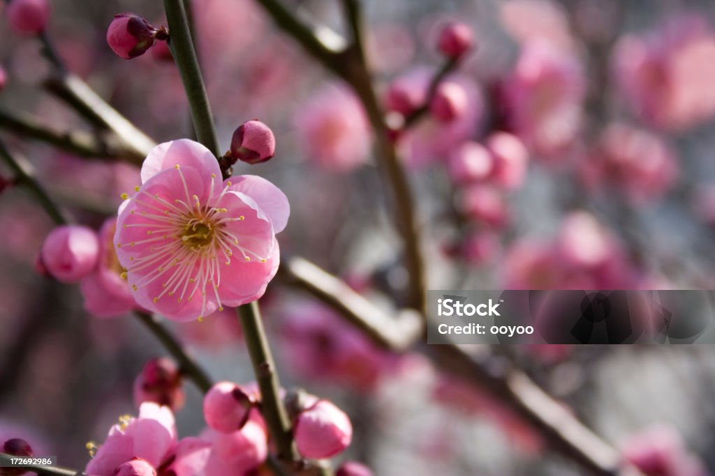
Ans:
{"label": "round pink bud with dark red base, just left of the lower stem", "polygon": [[204,418],[209,427],[224,433],[246,424],[255,401],[232,382],[219,382],[204,397]]}

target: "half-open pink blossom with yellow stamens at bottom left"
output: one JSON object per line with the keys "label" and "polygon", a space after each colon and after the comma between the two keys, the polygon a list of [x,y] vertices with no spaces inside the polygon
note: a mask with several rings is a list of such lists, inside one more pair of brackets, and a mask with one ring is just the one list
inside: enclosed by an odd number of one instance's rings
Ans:
{"label": "half-open pink blossom with yellow stamens at bottom left", "polygon": [[112,426],[107,439],[87,463],[85,472],[92,476],[113,476],[119,466],[135,457],[158,468],[167,460],[176,442],[172,410],[144,402],[138,417],[126,415]]}

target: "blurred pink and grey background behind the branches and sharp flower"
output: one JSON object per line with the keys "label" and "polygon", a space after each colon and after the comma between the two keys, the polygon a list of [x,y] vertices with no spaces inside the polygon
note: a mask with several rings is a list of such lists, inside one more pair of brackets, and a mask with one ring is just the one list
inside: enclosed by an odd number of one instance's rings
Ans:
{"label": "blurred pink and grey background behind the branches and sharp flower", "polygon": [[[359,101],[255,2],[192,3],[222,146],[251,118],[275,132],[275,158],[235,173],[264,176],[290,199],[282,252],[309,258],[380,305],[399,305],[400,241]],[[315,24],[345,30],[335,1],[286,3]],[[122,11],[165,24],[161,2],[51,6],[49,34],[71,71],[155,141],[190,136],[172,61],[158,47],[124,61],[104,39]],[[440,26],[458,19],[475,32],[475,51],[440,91],[446,106],[430,106],[398,139],[418,199],[429,288],[713,287],[711,1],[368,0],[365,10],[370,64],[395,121],[400,101],[424,98],[444,62],[435,49]],[[39,51],[39,41],[0,22],[1,110],[92,131],[44,91],[50,66]],[[93,228],[139,183],[127,163],[78,158],[4,128],[0,136]],[[77,286],[36,272],[51,221],[6,183],[9,171],[0,175],[0,440],[25,437],[36,454],[82,468],[85,443],[103,440],[118,415],[136,413],[132,382],[164,352],[131,316],[98,318]],[[421,354],[375,348],[280,279],[262,303],[284,385],[344,408],[356,432],[347,457],[376,475],[583,472],[487,390],[441,375]],[[172,328],[214,378],[252,380],[232,315]],[[641,468],[649,475],[715,471],[709,346],[501,352],[626,455],[643,445],[659,450],[667,465]],[[200,395],[186,387],[179,435],[203,426]]]}

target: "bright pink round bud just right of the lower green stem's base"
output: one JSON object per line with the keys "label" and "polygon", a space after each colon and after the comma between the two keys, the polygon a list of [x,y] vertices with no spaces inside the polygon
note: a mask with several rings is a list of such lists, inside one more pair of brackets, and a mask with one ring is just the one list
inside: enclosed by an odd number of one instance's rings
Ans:
{"label": "bright pink round bud just right of the lower green stem's base", "polygon": [[333,457],[352,440],[350,419],[327,400],[318,400],[300,412],[294,430],[298,452],[307,458]]}

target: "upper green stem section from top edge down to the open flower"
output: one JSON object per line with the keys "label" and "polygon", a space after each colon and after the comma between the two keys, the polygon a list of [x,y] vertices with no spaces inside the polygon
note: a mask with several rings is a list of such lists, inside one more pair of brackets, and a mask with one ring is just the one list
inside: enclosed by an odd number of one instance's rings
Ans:
{"label": "upper green stem section from top edge down to the open flower", "polygon": [[211,115],[209,98],[199,69],[199,61],[189,30],[189,21],[182,0],[164,0],[164,10],[169,23],[169,48],[181,74],[184,90],[189,99],[196,137],[209,151],[221,156],[218,137]]}

